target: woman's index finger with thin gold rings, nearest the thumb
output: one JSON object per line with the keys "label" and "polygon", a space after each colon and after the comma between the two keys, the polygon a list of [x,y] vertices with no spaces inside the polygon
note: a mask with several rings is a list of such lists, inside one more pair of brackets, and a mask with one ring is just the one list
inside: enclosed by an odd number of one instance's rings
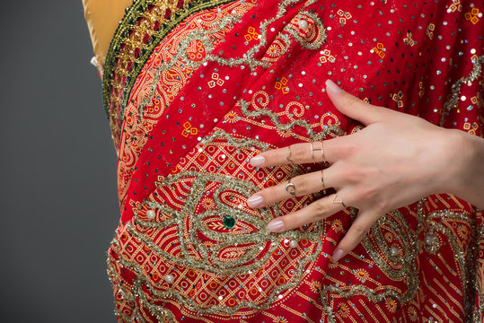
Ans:
{"label": "woman's index finger with thin gold rings, nearest the thumb", "polygon": [[337,150],[332,149],[341,137],[304,144],[291,144],[272,149],[251,158],[254,167],[270,167],[309,162],[336,162]]}

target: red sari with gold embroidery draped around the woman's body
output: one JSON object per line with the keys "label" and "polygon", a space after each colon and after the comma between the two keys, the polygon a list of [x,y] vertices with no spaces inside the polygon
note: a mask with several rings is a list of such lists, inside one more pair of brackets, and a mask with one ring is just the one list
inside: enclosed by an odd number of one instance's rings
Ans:
{"label": "red sari with gold embroidery draped around the woman's body", "polygon": [[246,205],[321,168],[254,169],[251,157],[363,128],[332,106],[327,78],[482,136],[482,12],[461,0],[135,1],[104,74],[119,321],[484,321],[482,213],[456,196],[386,214],[339,262],[330,255],[355,209],[274,233],[271,219],[322,193]]}

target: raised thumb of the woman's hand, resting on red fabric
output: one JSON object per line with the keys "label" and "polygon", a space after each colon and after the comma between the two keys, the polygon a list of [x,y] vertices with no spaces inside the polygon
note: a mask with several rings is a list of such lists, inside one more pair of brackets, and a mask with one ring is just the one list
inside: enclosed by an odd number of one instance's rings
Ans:
{"label": "raised thumb of the woman's hand, resting on red fabric", "polygon": [[348,92],[341,90],[339,86],[331,80],[326,81],[326,92],[339,112],[347,115],[349,118],[354,118],[360,121],[365,126],[381,121],[383,115],[387,112],[384,108],[366,103]]}

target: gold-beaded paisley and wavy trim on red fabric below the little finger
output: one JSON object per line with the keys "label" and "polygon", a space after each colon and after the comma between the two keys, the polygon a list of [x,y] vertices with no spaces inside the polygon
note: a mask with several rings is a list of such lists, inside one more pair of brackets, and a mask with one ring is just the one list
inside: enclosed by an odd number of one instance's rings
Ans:
{"label": "gold-beaded paisley and wavy trim on red fabric below the little finger", "polygon": [[[365,246],[366,252],[368,252],[374,263],[383,270],[383,272],[392,278],[392,280],[404,282],[407,286],[407,290],[399,290],[396,286],[379,286],[378,289],[371,289],[365,285],[324,285],[321,287],[320,300],[323,304],[326,314],[328,314],[329,322],[335,323],[335,315],[339,315],[339,311],[333,312],[333,309],[340,309],[339,306],[334,305],[335,296],[340,298],[350,298],[354,295],[365,295],[369,301],[381,302],[385,301],[387,307],[393,308],[395,304],[404,304],[412,300],[418,292],[418,249],[421,248],[418,236],[422,233],[427,235],[437,236],[439,233],[444,234],[447,241],[450,242],[450,248],[453,249],[453,254],[456,255],[455,261],[458,264],[462,274],[462,285],[467,285],[466,280],[470,280],[472,277],[467,271],[467,264],[471,262],[472,252],[466,250],[469,248],[467,244],[458,242],[456,233],[449,228],[453,228],[453,223],[465,223],[468,228],[472,226],[472,220],[467,214],[454,213],[453,211],[440,211],[431,214],[424,214],[424,200],[418,203],[417,214],[414,216],[418,220],[417,231],[410,229],[406,219],[399,211],[392,211],[386,214],[383,218],[380,218],[373,226],[372,230],[368,233],[365,239],[362,241]],[[356,216],[356,212],[352,209],[352,217]],[[444,223],[441,220],[444,219]],[[458,227],[458,226],[456,226]],[[483,226],[484,228],[484,226]],[[405,241],[398,240],[400,243],[400,251],[397,256],[392,255],[391,248],[383,238],[384,231],[393,231],[394,236],[407,237]],[[427,241],[428,242],[428,241]],[[431,242],[432,243],[432,242]],[[426,248],[426,246],[423,246]],[[433,252],[435,252],[434,250]],[[356,257],[356,255],[355,255]],[[342,267],[341,263],[338,264]],[[365,271],[355,271],[356,277],[365,279]],[[464,297],[464,303],[467,306],[472,306],[471,300],[469,300],[469,294],[467,291],[462,291]],[[332,299],[331,303],[328,299]],[[339,303],[340,304],[340,303]],[[389,308],[389,310],[390,310]],[[377,308],[378,309],[378,308]],[[415,309],[409,307],[410,312],[414,312]],[[466,311],[471,313],[471,310]],[[414,317],[410,316],[410,319]],[[413,321],[413,319],[412,319]]]}

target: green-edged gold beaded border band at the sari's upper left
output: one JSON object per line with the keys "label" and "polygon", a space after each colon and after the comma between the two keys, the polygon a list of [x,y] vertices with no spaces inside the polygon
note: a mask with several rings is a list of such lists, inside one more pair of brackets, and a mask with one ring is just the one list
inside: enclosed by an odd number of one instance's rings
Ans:
{"label": "green-edged gold beaded border band at the sari's upper left", "polygon": [[[104,107],[117,150],[129,92],[154,47],[190,14],[231,1],[186,0],[181,8],[178,0],[136,0],[131,5],[111,41],[103,74]],[[145,35],[150,38],[148,42]]]}

